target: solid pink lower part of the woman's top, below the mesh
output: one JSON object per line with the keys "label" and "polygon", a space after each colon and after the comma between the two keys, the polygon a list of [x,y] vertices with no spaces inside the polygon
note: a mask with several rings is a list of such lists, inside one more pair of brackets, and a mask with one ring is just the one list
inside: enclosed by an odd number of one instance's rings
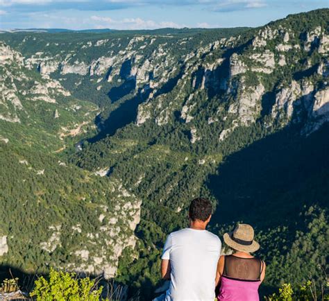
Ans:
{"label": "solid pink lower part of the woman's top, below the mesh", "polygon": [[258,301],[259,281],[242,281],[230,279],[228,277],[221,277],[221,289],[217,300],[235,300],[235,301]]}

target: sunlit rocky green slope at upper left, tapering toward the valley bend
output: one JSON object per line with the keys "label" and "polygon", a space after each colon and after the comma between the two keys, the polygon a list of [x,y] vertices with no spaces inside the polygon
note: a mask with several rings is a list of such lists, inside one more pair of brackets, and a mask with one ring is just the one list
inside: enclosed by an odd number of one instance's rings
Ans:
{"label": "sunlit rocky green slope at upper left, tapering toward the valley bend", "polygon": [[[94,127],[96,105],[72,97],[60,80],[44,76],[42,69],[40,74],[31,72],[31,60],[3,42],[0,52],[0,120],[56,135],[59,140],[52,145],[55,149],[66,147],[63,136],[78,135]],[[10,135],[6,123],[1,128],[3,135]],[[26,141],[28,138],[26,132]]]}

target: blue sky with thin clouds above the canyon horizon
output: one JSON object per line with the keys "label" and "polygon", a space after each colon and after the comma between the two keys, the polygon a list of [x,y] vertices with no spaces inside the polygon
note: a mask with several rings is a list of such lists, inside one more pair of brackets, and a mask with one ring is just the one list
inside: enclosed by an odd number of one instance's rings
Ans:
{"label": "blue sky with thin clouds above the canyon horizon", "polygon": [[0,28],[260,26],[329,0],[0,0]]}

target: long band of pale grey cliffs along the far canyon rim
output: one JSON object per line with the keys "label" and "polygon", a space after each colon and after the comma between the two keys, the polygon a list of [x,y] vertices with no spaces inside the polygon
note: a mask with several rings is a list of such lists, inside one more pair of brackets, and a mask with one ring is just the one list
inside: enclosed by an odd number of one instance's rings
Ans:
{"label": "long band of pale grey cliffs along the far canyon rim", "polygon": [[[25,37],[24,42],[28,39],[31,37]],[[176,45],[175,49],[171,40]],[[319,85],[326,85],[323,82],[328,75],[326,26],[314,25],[307,31],[296,31],[290,24],[285,26],[282,22],[276,22],[264,26],[249,37],[239,35],[213,39],[209,44],[203,44],[202,40],[197,44],[194,40],[195,37],[133,35],[76,43],[86,53],[93,53],[87,60],[81,58],[81,53],[75,53],[72,43],[65,44],[65,51],[55,51],[56,55],[53,47],[48,51],[48,47],[51,47],[48,43],[24,58],[21,53],[2,44],[2,60],[16,60],[17,64],[38,70],[44,80],[48,80],[42,89],[40,85],[30,89],[32,94],[37,95],[33,97],[34,100],[56,101],[51,96],[51,89],[69,95],[70,92],[63,89],[58,80],[49,78],[52,74],[58,74],[56,78],[60,78],[62,85],[65,85],[66,76],[70,74],[87,78],[95,94],[103,95],[109,87],[117,87],[119,91],[119,88],[124,90],[129,86],[130,89],[119,93],[119,96],[111,94],[110,89],[108,106],[111,107],[110,101],[115,103],[124,99],[126,94],[144,95],[144,102],[139,105],[135,115],[137,126],[146,121],[164,126],[179,110],[181,118],[193,127],[193,114],[200,114],[195,99],[204,89],[212,90],[214,96],[220,93],[224,101],[234,96],[228,114],[234,115],[240,125],[255,122],[261,117],[264,106],[262,99],[271,92],[275,95],[269,114],[271,122],[279,122],[283,126],[292,119],[298,120],[298,115],[301,115],[298,110],[309,110],[315,101],[314,95],[323,89]],[[56,46],[56,43],[53,44]],[[191,44],[194,46],[192,51],[189,50]],[[102,55],[95,56],[96,51]],[[180,54],[177,55],[177,52]],[[294,74],[292,69],[296,69]],[[315,69],[317,71],[312,71]],[[287,70],[290,70],[291,79],[283,80],[280,74],[287,73]],[[254,83],[251,83],[251,79]],[[76,81],[78,85],[81,85],[79,80]],[[12,94],[11,87],[9,89],[11,94],[8,99],[22,109],[19,98]],[[74,93],[75,87],[68,85],[67,89]],[[323,105],[326,105],[326,101]],[[219,101],[218,110],[221,108],[222,103]],[[314,117],[310,114],[307,116]],[[2,118],[19,121],[15,114]],[[212,117],[212,120],[216,119],[216,116]],[[312,119],[312,122],[307,123],[308,128],[311,123],[317,127],[317,122]],[[194,129],[197,131],[197,128]]]}

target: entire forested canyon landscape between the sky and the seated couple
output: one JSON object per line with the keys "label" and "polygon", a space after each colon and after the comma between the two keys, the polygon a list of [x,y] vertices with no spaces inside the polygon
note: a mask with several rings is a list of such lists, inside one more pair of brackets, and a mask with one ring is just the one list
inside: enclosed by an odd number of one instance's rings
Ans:
{"label": "entire forested canyon landscape between the sky and the seated couple", "polygon": [[105,272],[151,298],[167,234],[203,196],[212,232],[255,227],[264,291],[323,280],[328,22],[2,33],[3,263]]}

